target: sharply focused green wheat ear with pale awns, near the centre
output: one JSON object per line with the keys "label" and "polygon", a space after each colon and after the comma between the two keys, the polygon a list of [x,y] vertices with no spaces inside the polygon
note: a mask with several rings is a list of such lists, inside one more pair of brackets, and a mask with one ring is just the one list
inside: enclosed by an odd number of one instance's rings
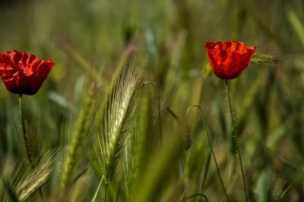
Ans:
{"label": "sharply focused green wheat ear with pale awns, near the centre", "polygon": [[115,174],[132,137],[131,128],[142,93],[143,66],[135,66],[135,62],[127,63],[117,82],[112,84],[104,122],[98,131],[99,145],[95,148],[106,182]]}

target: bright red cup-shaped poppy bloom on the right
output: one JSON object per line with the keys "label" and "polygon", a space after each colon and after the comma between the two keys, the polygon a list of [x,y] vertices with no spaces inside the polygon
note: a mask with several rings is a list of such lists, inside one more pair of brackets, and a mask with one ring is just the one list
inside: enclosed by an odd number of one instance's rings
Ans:
{"label": "bright red cup-shaped poppy bloom on the right", "polygon": [[234,79],[246,69],[256,47],[243,42],[207,42],[205,48],[215,75]]}

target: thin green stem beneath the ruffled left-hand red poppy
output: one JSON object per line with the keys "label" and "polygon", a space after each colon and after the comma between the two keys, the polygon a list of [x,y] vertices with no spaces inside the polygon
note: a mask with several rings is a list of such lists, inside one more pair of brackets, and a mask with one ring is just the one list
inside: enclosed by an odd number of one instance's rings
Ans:
{"label": "thin green stem beneath the ruffled left-hand red poppy", "polygon": [[[22,107],[22,94],[19,94],[19,113],[20,113],[21,131],[22,131],[22,137],[23,137],[23,143],[24,143],[24,147],[25,147],[26,157],[29,161],[30,167],[32,167],[32,169],[34,169],[33,161],[32,161],[32,158],[31,158],[31,152],[30,152],[31,145],[28,142],[28,134],[26,133],[25,124],[24,124],[23,107]],[[39,194],[40,194],[41,199],[44,201],[44,197],[43,197],[43,193],[42,193],[41,188],[39,188]]]}

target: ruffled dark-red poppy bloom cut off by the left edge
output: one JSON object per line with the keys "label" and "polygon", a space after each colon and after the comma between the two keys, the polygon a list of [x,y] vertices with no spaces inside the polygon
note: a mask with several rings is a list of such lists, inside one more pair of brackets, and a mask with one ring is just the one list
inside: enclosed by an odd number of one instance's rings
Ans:
{"label": "ruffled dark-red poppy bloom cut off by the left edge", "polygon": [[18,51],[0,54],[0,76],[6,88],[16,94],[34,95],[40,89],[54,62]]}

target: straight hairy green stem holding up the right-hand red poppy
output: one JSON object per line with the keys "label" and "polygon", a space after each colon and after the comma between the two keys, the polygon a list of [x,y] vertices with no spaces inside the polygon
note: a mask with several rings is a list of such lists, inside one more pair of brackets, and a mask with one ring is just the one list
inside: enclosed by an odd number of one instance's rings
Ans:
{"label": "straight hairy green stem holding up the right-hand red poppy", "polygon": [[229,88],[228,88],[228,85],[227,85],[227,79],[225,79],[225,88],[226,88],[227,98],[228,98],[228,102],[229,102],[229,110],[230,110],[230,117],[231,117],[231,126],[232,126],[233,138],[235,140],[236,147],[237,147],[237,154],[239,156],[239,161],[240,161],[241,173],[242,173],[242,178],[243,178],[243,185],[244,185],[244,192],[245,192],[246,202],[248,202],[249,200],[248,200],[248,193],[247,193],[247,187],[246,187],[246,179],[245,179],[243,162],[242,162],[242,156],[241,156],[241,150],[240,150],[240,143],[239,143],[239,139],[238,139],[238,136],[237,136],[236,127],[235,127],[236,125],[235,125],[235,119],[234,119],[234,116],[233,116],[233,111],[232,111],[232,106],[231,106],[231,98],[230,98]]}

